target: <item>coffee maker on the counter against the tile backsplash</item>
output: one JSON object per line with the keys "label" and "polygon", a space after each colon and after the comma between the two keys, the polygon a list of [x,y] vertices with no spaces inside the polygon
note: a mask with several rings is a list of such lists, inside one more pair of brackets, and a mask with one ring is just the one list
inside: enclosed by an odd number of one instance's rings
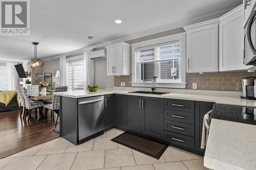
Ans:
{"label": "coffee maker on the counter against the tile backsplash", "polygon": [[241,79],[243,87],[242,99],[256,100],[256,77],[246,77]]}

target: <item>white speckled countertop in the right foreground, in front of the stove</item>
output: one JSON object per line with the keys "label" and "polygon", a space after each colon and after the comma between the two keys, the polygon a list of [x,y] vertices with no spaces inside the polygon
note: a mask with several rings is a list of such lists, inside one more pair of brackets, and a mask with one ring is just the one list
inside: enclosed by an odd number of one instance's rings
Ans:
{"label": "white speckled countertop in the right foreground, in front of the stove", "polygon": [[204,166],[256,169],[256,126],[211,119]]}

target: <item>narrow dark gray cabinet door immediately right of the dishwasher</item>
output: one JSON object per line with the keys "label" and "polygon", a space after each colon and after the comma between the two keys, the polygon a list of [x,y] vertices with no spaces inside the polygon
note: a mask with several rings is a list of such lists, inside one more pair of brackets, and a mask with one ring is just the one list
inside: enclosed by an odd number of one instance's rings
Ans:
{"label": "narrow dark gray cabinet door immediately right of the dishwasher", "polygon": [[114,94],[104,95],[104,120],[105,129],[109,129],[114,126],[115,115],[114,115]]}

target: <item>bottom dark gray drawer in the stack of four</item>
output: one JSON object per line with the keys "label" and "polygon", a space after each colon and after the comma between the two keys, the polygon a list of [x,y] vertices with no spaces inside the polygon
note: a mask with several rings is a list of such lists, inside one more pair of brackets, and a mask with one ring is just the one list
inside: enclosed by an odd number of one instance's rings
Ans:
{"label": "bottom dark gray drawer in the stack of four", "polygon": [[164,141],[177,144],[185,148],[195,149],[195,138],[173,132],[164,131]]}

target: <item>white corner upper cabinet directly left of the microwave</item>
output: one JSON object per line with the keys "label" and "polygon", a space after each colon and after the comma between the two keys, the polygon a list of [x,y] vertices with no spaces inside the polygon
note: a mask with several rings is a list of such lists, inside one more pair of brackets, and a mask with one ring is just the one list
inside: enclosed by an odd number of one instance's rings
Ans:
{"label": "white corner upper cabinet directly left of the microwave", "polygon": [[243,6],[220,17],[219,71],[247,69],[243,64],[244,49]]}

